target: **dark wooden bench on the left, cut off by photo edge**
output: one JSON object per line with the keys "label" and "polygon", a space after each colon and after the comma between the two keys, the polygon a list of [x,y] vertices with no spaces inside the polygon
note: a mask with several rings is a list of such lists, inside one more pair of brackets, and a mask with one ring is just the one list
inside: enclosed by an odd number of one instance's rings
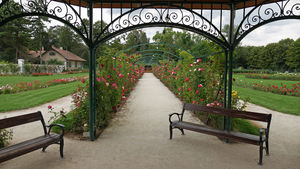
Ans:
{"label": "dark wooden bench on the left, cut off by photo edge", "polygon": [[[49,130],[47,132],[45,121],[43,119],[42,113],[40,111],[16,116],[16,117],[10,117],[0,120],[0,129],[5,129],[9,127],[14,127],[26,123],[31,123],[35,121],[41,121],[42,123],[42,129],[44,130],[44,135],[40,137],[36,137],[15,145],[11,145],[8,147],[4,147],[0,149],[0,163],[4,162],[6,160],[10,160],[12,158],[21,156],[23,154],[32,152],[37,149],[42,149],[43,152],[45,152],[46,148],[51,144],[59,144],[60,145],[60,156],[63,158],[63,148],[64,148],[64,126],[61,124],[52,124],[49,127]],[[61,128],[61,134],[52,134],[50,133],[52,127],[58,126]]]}

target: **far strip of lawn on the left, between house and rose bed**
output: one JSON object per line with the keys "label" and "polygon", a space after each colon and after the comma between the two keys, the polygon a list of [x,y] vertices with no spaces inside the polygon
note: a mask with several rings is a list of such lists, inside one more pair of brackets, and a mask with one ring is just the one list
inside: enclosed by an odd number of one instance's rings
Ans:
{"label": "far strip of lawn on the left, between house and rose bed", "polygon": [[45,83],[52,79],[62,79],[62,78],[71,78],[71,77],[85,77],[88,76],[88,73],[77,73],[77,74],[53,74],[52,76],[0,76],[0,86],[6,84],[14,85],[21,82],[33,82],[40,81]]}

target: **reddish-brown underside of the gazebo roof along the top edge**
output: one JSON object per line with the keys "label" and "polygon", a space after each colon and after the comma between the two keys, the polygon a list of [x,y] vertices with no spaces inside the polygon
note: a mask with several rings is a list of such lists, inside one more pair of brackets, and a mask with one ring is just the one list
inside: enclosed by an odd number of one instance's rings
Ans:
{"label": "reddish-brown underside of the gazebo roof along the top edge", "polygon": [[[63,1],[63,0],[56,0]],[[183,6],[188,9],[230,9],[230,4],[234,3],[236,9],[256,6],[265,0],[66,0],[72,5],[87,7],[88,2],[94,3],[94,8],[137,8],[152,3],[169,2],[173,5]],[[282,0],[268,0],[267,3],[278,2]],[[168,8],[159,5],[157,8]]]}

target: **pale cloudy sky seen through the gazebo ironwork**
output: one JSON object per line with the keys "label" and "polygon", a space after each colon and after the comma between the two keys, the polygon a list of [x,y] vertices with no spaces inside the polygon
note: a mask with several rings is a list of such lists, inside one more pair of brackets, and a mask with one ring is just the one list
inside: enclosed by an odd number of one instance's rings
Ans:
{"label": "pale cloudy sky seen through the gazebo ironwork", "polygon": [[[291,0],[297,2],[297,0]],[[276,6],[274,6],[276,8]],[[124,9],[126,11],[126,9]],[[123,12],[124,12],[123,11]],[[152,11],[151,11],[152,12]],[[100,16],[100,9],[94,10],[94,20],[100,20],[98,16]],[[110,22],[110,9],[104,9],[103,10],[103,18],[106,23]],[[114,9],[112,11],[113,18],[117,17],[120,13],[119,9]],[[84,18],[87,18],[87,11],[86,9],[82,9],[82,14]],[[207,14],[207,12],[204,12],[204,15]],[[300,15],[300,11],[299,11]],[[235,22],[239,23],[241,21],[241,11],[237,11]],[[222,22],[224,24],[229,23],[229,13],[226,13],[224,11],[224,17],[222,19]],[[213,17],[213,23],[215,25],[219,24],[219,18],[218,18],[218,12],[214,14]],[[57,21],[52,21],[51,25],[56,25],[61,23]],[[152,37],[156,34],[156,32],[162,32],[163,28],[161,27],[151,27],[151,28],[144,28],[142,29],[146,32],[148,38],[150,38],[150,41],[152,41]],[[174,29],[175,31],[181,31],[180,29]],[[269,24],[266,24],[264,26],[261,26],[257,28],[256,30],[249,33],[242,41],[241,44],[243,46],[265,46],[269,43],[275,43],[280,41],[281,39],[291,38],[291,39],[298,39],[300,37],[300,21],[299,20],[282,20],[282,21],[276,21]]]}

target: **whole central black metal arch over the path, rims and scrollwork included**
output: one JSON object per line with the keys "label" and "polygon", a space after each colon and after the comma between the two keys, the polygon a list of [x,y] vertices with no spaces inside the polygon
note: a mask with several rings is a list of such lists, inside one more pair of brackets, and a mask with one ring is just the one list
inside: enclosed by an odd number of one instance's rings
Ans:
{"label": "whole central black metal arch over the path, rims and scrollwork included", "polygon": [[[157,8],[155,8],[155,6],[168,6],[169,8],[166,8],[164,10],[158,10]],[[142,15],[143,10],[147,8],[156,11],[157,16],[154,16],[153,13],[150,12],[145,12],[144,15]],[[179,13],[181,14],[181,17],[179,17],[181,19],[179,21],[177,21],[179,18],[178,13],[169,13],[170,8],[180,11]],[[131,14],[137,10],[141,10],[140,12],[138,12],[139,14],[133,14],[133,16],[130,18]],[[185,15],[183,11],[189,12],[191,16]],[[165,16],[167,16],[166,18],[168,19],[165,19]],[[229,46],[229,43],[222,34],[222,32],[211,21],[209,21],[202,15],[194,12],[193,10],[184,8],[182,6],[178,6],[176,5],[176,3],[170,4],[169,2],[153,3],[150,5],[141,6],[139,8],[133,8],[121,14],[113,21],[111,21],[111,23],[109,23],[103,29],[103,31],[99,35],[97,35],[95,39],[95,45],[98,46],[99,44],[104,43],[108,39],[111,39],[115,36],[118,36],[122,33],[128,32],[133,29],[154,26],[174,27],[192,31],[214,41],[224,49],[226,49]]]}

